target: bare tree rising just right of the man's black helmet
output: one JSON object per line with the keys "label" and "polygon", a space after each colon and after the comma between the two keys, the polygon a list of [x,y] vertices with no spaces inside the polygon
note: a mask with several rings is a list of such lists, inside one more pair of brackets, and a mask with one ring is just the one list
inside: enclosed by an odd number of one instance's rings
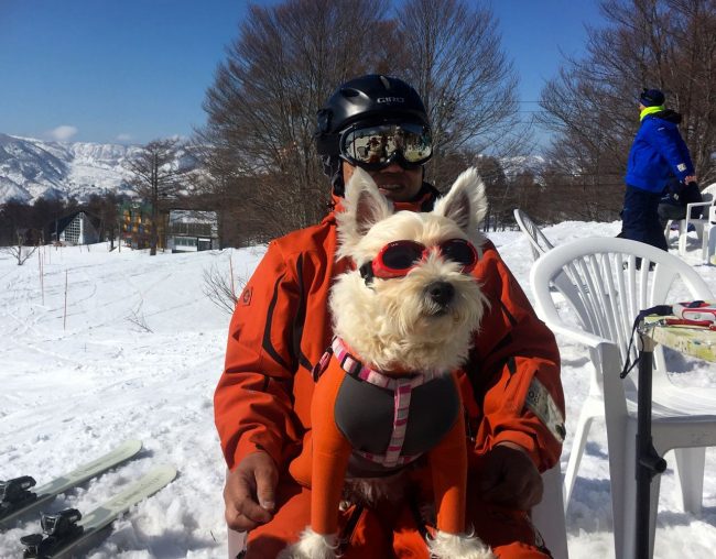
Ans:
{"label": "bare tree rising just right of the man's black helmet", "polygon": [[465,0],[406,0],[397,21],[405,77],[430,111],[431,178],[438,186],[452,182],[446,163],[454,152],[522,154],[530,125],[519,121],[518,78],[489,8]]}

